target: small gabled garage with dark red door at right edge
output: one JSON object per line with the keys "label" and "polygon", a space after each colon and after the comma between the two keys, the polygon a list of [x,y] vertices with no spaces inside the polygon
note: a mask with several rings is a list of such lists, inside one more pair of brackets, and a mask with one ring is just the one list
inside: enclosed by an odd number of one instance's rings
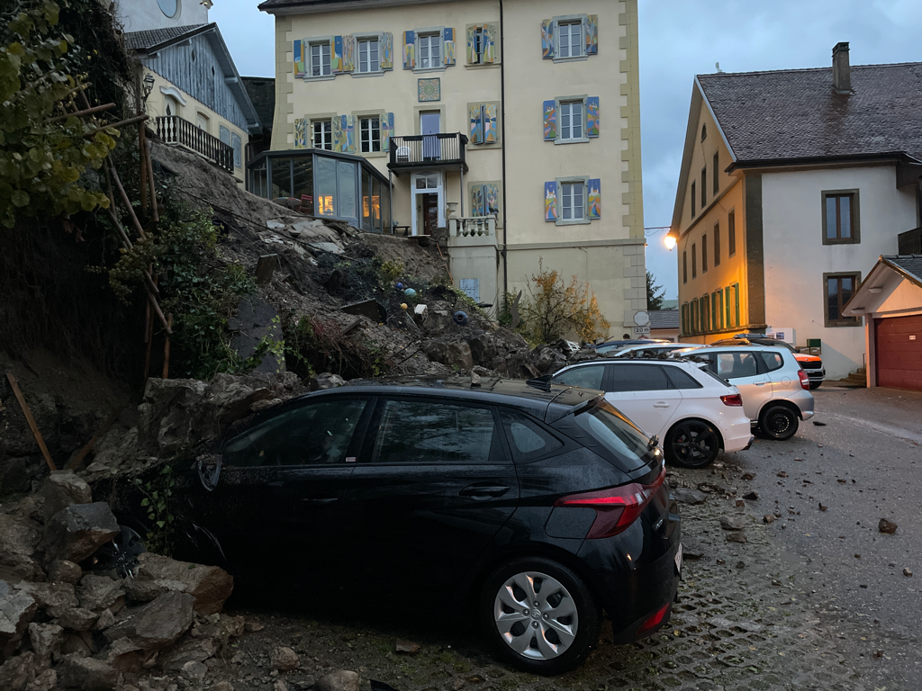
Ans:
{"label": "small gabled garage with dark red door at right edge", "polygon": [[922,254],[881,257],[842,311],[864,317],[868,386],[922,391]]}

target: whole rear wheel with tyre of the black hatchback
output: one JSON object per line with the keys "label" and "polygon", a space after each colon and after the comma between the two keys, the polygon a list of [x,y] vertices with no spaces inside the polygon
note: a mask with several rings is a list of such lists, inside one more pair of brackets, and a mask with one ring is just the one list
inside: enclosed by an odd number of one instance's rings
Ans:
{"label": "whole rear wheel with tyre of the black hatchback", "polygon": [[480,600],[487,637],[507,661],[535,674],[559,674],[585,660],[601,619],[585,583],[543,557],[518,558],[486,580]]}

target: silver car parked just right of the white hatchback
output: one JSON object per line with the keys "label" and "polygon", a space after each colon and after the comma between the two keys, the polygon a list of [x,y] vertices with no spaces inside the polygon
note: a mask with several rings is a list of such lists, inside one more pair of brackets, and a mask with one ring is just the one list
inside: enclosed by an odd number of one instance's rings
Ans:
{"label": "silver car parked just right of the white hatchback", "polygon": [[681,351],[681,357],[706,363],[743,397],[743,412],[769,439],[790,439],[798,419],[813,416],[810,379],[787,348],[717,345]]}

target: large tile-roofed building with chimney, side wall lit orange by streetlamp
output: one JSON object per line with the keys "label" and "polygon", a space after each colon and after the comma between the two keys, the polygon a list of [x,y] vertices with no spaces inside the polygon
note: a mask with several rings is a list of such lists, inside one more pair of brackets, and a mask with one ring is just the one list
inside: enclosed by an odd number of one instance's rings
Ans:
{"label": "large tile-roofed building with chimney, side wall lit orange by streetlamp", "polygon": [[845,304],[919,222],[919,64],[696,77],[670,233],[680,340],[781,332],[828,379],[866,362]]}

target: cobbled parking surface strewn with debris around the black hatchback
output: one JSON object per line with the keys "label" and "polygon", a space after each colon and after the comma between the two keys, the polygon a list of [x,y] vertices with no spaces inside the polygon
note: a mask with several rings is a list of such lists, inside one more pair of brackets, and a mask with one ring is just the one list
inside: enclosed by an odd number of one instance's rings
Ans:
{"label": "cobbled parking surface strewn with debris around the black hatchback", "polygon": [[[653,637],[628,646],[612,645],[610,628],[603,628],[597,650],[573,673],[552,678],[518,673],[494,662],[472,631],[448,625],[388,628],[354,619],[270,618],[267,613],[256,615],[266,629],[242,638],[226,657],[228,672],[237,691],[271,687],[278,678],[290,689],[307,688],[335,669],[360,672],[365,689],[369,679],[378,679],[399,691],[922,688],[913,673],[922,657],[913,632],[889,630],[873,608],[840,597],[844,588],[823,587],[826,581],[833,585],[830,571],[841,569],[831,559],[826,565],[827,556],[818,556],[822,550],[810,546],[810,532],[804,530],[806,515],[800,511],[816,503],[799,489],[798,473],[805,471],[797,464],[798,470],[789,473],[794,479],[777,482],[774,476],[782,472],[774,465],[790,467],[798,460],[794,454],[805,455],[808,447],[816,451],[813,438],[821,429],[803,428],[789,442],[757,440],[751,451],[722,455],[712,468],[670,468],[673,488],[708,492],[701,504],[680,505],[686,556],[672,620]],[[793,495],[794,485],[786,482],[797,482],[803,495],[792,496],[789,504],[786,493],[791,489]],[[750,495],[756,489],[759,498]],[[785,499],[775,501],[775,496]],[[779,518],[766,524],[766,513]],[[744,530],[721,527],[720,519],[732,514],[744,517]],[[795,526],[799,542],[788,539]],[[740,535],[745,542],[732,541]],[[902,606],[922,609],[915,594]],[[420,643],[420,650],[396,653],[399,638]],[[266,655],[275,645],[298,650],[301,670],[269,676]]]}

